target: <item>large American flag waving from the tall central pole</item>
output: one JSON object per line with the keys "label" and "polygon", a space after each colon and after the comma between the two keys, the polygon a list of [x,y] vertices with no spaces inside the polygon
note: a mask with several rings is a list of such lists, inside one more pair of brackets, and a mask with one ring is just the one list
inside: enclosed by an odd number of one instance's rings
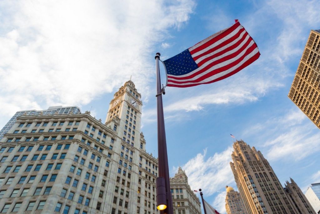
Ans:
{"label": "large American flag waving from the tall central pole", "polygon": [[231,27],[165,60],[167,86],[191,87],[225,79],[260,56],[257,44],[236,20]]}

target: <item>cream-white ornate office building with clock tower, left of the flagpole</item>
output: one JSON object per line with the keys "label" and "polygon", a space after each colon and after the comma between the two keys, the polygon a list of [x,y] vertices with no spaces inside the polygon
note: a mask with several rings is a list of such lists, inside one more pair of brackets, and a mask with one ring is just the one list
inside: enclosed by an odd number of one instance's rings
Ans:
{"label": "cream-white ornate office building with clock tower, left of the flagpole", "polygon": [[90,112],[19,116],[0,141],[0,212],[158,213],[141,107],[127,81],[105,124]]}

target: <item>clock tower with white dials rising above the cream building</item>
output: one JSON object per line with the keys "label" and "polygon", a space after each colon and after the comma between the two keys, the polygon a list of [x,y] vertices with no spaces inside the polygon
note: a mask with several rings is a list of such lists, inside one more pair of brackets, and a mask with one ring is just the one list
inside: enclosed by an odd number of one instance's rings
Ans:
{"label": "clock tower with white dials rising above the cream building", "polygon": [[141,109],[141,94],[129,80],[114,94],[106,118],[106,125],[135,148],[140,148]]}

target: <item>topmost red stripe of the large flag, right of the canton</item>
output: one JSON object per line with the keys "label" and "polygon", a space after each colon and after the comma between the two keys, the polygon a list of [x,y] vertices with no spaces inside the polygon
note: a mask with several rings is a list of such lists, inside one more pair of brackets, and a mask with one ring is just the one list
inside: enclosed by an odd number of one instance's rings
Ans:
{"label": "topmost red stripe of the large flag, right of the canton", "polygon": [[233,30],[235,30],[239,26],[240,26],[240,22],[237,22],[237,23],[233,24],[230,28],[228,28],[228,29],[224,30],[223,32],[221,32],[220,34],[218,34],[218,35],[213,34],[212,36],[202,40],[201,42],[199,42],[196,45],[194,45],[194,46],[189,48],[190,53],[191,54],[196,53],[199,50],[202,50],[202,49],[212,45],[216,41],[222,39],[223,37],[225,37],[226,35],[231,33]]}

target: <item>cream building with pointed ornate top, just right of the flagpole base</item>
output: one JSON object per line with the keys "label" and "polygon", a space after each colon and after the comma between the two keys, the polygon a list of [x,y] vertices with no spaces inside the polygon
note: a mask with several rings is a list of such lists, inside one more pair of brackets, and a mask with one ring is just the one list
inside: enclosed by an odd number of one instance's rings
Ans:
{"label": "cream building with pointed ornate top, just right of the flagpole base", "polygon": [[191,190],[188,177],[181,169],[170,178],[173,214],[201,214],[200,200]]}

